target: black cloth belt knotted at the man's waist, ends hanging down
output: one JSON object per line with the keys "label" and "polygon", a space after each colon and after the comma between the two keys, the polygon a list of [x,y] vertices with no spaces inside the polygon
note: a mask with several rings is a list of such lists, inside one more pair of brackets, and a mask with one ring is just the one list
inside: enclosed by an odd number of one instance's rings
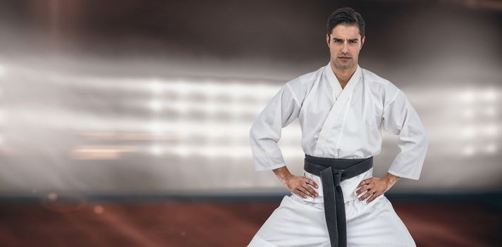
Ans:
{"label": "black cloth belt knotted at the man's waist, ends hanging down", "polygon": [[373,157],[367,159],[334,159],[305,155],[305,171],[321,177],[324,194],[324,215],[331,246],[347,246],[345,203],[340,182],[373,167]]}

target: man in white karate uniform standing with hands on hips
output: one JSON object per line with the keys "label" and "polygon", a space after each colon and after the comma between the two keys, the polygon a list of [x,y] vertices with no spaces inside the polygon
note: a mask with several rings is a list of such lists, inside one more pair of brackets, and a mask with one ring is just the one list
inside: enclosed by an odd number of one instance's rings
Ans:
{"label": "man in white karate uniform standing with hands on hips", "polygon": [[[415,246],[383,195],[400,177],[419,179],[427,134],[396,85],[358,66],[365,21],[352,8],[329,16],[327,66],[290,80],[250,130],[256,170],[273,170],[291,195],[249,246]],[[298,119],[304,176],[290,173],[277,143]],[[380,127],[398,135],[400,153],[382,178],[372,177]]]}

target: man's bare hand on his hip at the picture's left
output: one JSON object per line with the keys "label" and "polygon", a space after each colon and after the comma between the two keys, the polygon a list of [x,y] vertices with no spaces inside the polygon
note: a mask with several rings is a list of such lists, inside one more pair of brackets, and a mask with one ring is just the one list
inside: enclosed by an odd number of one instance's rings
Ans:
{"label": "man's bare hand on his hip at the picture's left", "polygon": [[274,169],[274,173],[289,191],[300,195],[302,198],[307,198],[307,196],[315,198],[318,195],[311,187],[318,188],[317,183],[312,179],[307,179],[305,176],[295,176],[286,167]]}

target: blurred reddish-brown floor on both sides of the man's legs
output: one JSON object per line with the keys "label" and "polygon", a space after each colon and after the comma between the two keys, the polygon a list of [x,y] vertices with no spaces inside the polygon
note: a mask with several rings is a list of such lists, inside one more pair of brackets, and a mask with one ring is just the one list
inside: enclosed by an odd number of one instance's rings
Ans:
{"label": "blurred reddish-brown floor on both sides of the man's legs", "polygon": [[[0,203],[0,246],[246,246],[278,203]],[[496,207],[393,206],[417,246],[502,246]]]}

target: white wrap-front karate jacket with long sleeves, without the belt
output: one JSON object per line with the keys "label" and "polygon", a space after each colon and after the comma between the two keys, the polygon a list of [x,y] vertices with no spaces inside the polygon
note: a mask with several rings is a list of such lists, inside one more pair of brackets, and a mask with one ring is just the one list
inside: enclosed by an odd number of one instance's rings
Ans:
{"label": "white wrap-front karate jacket with long sleeves, without the belt", "polygon": [[[343,159],[363,159],[381,150],[381,127],[398,135],[400,152],[388,172],[407,179],[419,179],[429,139],[422,122],[403,91],[390,81],[357,66],[345,88],[328,64],[317,71],[288,81],[250,129],[255,169],[271,170],[286,166],[277,143],[281,128],[298,119],[302,149],[307,155]],[[372,176],[372,169],[341,183],[345,202],[354,200],[355,188]],[[317,198],[322,202],[319,176]]]}

